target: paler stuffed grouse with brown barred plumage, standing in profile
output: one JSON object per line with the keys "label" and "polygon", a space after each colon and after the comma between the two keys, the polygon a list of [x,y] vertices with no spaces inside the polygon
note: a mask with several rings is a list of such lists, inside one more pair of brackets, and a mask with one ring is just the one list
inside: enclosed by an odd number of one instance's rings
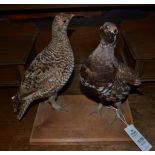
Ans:
{"label": "paler stuffed grouse with brown barred plumage, standing in profile", "polygon": [[74,68],[74,56],[67,37],[67,27],[73,14],[60,13],[52,23],[52,40],[32,61],[24,74],[19,91],[12,97],[17,119],[21,120],[29,105],[48,98],[52,107],[60,110],[57,93],[69,80]]}

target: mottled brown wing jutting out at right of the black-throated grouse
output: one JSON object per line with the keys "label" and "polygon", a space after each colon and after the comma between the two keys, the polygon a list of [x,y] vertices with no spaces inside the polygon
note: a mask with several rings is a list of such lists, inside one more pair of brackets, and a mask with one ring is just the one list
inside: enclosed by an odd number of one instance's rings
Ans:
{"label": "mottled brown wing jutting out at right of the black-throated grouse", "polygon": [[123,63],[120,63],[118,66],[116,78],[121,81],[125,81],[130,85],[139,86],[141,84],[138,74],[136,74],[133,69]]}

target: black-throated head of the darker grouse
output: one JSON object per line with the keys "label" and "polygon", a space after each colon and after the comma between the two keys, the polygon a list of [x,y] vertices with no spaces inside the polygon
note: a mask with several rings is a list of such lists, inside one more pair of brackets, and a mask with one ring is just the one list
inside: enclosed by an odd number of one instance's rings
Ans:
{"label": "black-throated head of the darker grouse", "polygon": [[118,29],[116,25],[112,22],[105,22],[101,27],[101,37],[107,43],[113,43],[116,41],[116,35],[118,34]]}

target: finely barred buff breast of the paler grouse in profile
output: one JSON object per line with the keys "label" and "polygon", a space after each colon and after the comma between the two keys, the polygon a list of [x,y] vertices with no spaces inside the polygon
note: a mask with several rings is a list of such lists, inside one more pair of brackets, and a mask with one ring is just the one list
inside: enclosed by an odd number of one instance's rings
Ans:
{"label": "finely barred buff breast of the paler grouse in profile", "polygon": [[[54,47],[54,46],[52,46]],[[49,55],[53,57],[53,65],[55,66],[55,74],[51,79],[49,79],[49,85],[53,84],[53,82],[58,82],[60,90],[70,78],[72,71],[74,69],[74,55],[70,46],[70,43],[66,40],[66,42],[59,42],[54,49],[51,49]]]}

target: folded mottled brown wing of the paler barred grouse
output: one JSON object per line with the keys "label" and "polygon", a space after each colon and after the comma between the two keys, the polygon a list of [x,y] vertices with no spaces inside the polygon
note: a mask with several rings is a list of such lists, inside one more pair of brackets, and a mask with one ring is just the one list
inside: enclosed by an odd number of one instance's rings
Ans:
{"label": "folded mottled brown wing of the paler barred grouse", "polygon": [[20,95],[27,96],[39,89],[46,87],[56,88],[53,81],[62,80],[63,70],[59,67],[60,62],[45,57],[43,53],[37,55],[24,74],[24,80],[20,86]]}

